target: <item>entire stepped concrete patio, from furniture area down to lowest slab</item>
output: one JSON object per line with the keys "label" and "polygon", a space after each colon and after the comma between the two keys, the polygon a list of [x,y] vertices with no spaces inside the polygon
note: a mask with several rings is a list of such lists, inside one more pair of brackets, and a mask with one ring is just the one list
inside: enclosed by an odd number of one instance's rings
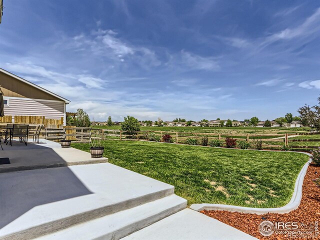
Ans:
{"label": "entire stepped concrete patio, from furniture area down to lowest slab", "polygon": [[107,158],[43,139],[4,148],[0,239],[254,239]]}

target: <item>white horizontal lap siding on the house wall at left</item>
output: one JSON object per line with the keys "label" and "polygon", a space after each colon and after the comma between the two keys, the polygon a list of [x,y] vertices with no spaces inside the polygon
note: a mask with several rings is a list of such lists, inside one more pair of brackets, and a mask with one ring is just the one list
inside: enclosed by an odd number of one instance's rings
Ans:
{"label": "white horizontal lap siding on the house wall at left", "polygon": [[22,97],[5,97],[9,99],[9,105],[4,106],[5,115],[31,115],[45,116],[45,118],[65,117],[64,101],[30,99]]}

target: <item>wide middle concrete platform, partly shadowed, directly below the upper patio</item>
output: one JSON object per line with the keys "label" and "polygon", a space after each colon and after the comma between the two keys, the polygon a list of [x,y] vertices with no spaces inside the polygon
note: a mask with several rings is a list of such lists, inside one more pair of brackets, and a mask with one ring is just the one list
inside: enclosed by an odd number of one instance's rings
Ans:
{"label": "wide middle concrete platform, partly shadowed, directly below the upper patio", "polygon": [[0,239],[33,239],[174,193],[110,163],[0,174]]}

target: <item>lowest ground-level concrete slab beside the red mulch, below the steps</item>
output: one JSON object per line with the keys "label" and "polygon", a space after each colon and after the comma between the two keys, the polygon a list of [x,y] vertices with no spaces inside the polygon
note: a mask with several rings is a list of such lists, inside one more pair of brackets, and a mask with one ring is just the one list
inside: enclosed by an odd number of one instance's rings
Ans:
{"label": "lowest ground-level concrete slab beside the red mulch, below the steps", "polygon": [[184,209],[138,230],[123,240],[240,240],[257,239],[191,209]]}

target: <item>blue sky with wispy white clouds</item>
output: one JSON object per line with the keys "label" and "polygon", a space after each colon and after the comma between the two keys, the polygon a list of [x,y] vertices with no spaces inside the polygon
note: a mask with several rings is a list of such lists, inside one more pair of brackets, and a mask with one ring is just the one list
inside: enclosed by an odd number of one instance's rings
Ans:
{"label": "blue sky with wispy white clouds", "polygon": [[0,67],[91,120],[273,119],[315,104],[315,0],[5,0]]}

